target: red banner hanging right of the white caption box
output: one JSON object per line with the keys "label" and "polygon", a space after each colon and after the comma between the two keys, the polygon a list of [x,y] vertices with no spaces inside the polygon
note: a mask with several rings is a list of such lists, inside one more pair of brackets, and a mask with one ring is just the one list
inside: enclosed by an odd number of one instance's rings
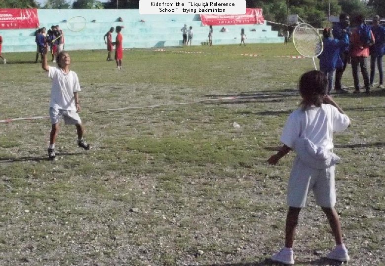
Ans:
{"label": "red banner hanging right of the white caption box", "polygon": [[264,24],[262,8],[246,8],[244,15],[200,15],[203,26],[222,26],[237,24]]}

